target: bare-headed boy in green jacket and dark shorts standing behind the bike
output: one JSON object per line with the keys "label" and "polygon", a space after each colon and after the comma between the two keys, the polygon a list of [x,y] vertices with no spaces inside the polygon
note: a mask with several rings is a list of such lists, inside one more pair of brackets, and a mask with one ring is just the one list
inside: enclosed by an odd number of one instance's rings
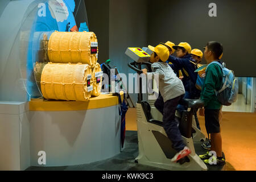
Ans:
{"label": "bare-headed boy in green jacket and dark shorts standing behind the bike", "polygon": [[[207,64],[212,61],[220,61],[218,58],[222,55],[223,47],[218,42],[208,42],[204,51],[204,58]],[[224,165],[225,159],[222,156],[222,139],[220,133],[220,122],[218,119],[221,104],[218,102],[214,90],[220,90],[222,86],[222,70],[217,64],[210,64],[207,67],[205,82],[201,92],[201,100],[205,102],[205,127],[210,134],[211,151],[215,151],[217,156],[199,155],[206,164]]]}

